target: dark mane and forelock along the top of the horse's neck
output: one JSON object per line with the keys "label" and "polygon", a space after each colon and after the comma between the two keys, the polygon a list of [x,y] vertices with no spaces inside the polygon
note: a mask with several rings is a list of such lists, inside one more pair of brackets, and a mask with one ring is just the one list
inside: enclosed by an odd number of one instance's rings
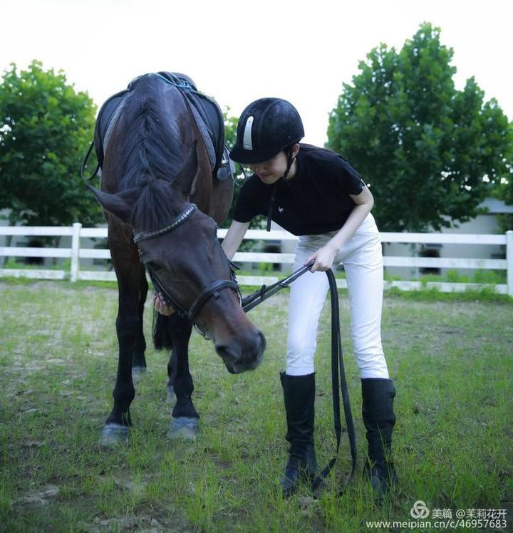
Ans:
{"label": "dark mane and forelock along the top of the horse's neck", "polygon": [[170,183],[180,172],[186,155],[163,120],[151,89],[146,83],[125,99],[125,131],[119,157],[123,162],[121,188],[137,191],[132,222],[147,229],[159,227],[173,216],[176,194]]}

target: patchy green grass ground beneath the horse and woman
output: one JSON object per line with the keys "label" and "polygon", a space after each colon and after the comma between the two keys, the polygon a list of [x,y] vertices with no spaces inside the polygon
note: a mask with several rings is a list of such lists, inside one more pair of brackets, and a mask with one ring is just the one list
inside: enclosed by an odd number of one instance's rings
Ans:
{"label": "patchy green grass ground beneath the horse and woman", "polygon": [[[130,443],[105,450],[98,437],[117,367],[116,289],[0,282],[0,531],[359,532],[367,530],[367,520],[410,519],[415,500],[453,512],[507,508],[511,517],[511,299],[438,293],[423,300],[424,293],[416,299],[405,296],[413,293],[388,293],[383,306],[383,346],[398,390],[393,449],[400,485],[378,507],[360,471],[356,484],[336,497],[350,470],[346,433],[333,477],[318,499],[307,487],[285,502],[279,496],[286,459],[279,385],[285,292],[250,314],[268,343],[257,371],[229,375],[212,343],[192,336],[193,399],[201,415],[195,442],[165,438],[167,355],[150,347],[147,376],[132,406]],[[340,299],[363,457],[360,380],[344,291]],[[150,324],[148,313],[148,339]],[[316,356],[322,463],[334,451],[329,331],[326,305]]]}

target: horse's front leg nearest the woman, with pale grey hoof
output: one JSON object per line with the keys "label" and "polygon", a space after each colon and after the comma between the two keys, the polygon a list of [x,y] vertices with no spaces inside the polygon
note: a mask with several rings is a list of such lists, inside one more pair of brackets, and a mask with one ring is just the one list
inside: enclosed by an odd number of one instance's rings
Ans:
{"label": "horse's front leg nearest the woman, with pale grey hoof", "polygon": [[193,439],[198,432],[199,415],[191,398],[194,390],[189,372],[189,339],[192,326],[189,321],[179,317],[174,317],[170,326],[173,337],[172,358],[176,363],[174,388],[177,401],[172,410],[171,427],[167,437]]}

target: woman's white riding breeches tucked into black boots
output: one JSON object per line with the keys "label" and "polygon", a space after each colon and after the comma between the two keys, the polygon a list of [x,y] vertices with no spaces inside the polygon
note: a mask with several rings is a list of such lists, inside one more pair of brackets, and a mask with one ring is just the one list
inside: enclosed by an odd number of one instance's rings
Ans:
{"label": "woman's white riding breeches tucked into black boots", "polygon": [[[336,232],[299,237],[294,270],[323,247]],[[381,346],[383,256],[381,239],[371,213],[336,255],[333,267],[343,263],[351,307],[353,353],[361,378],[388,378]],[[324,272],[307,272],[291,284],[286,373],[303,376],[314,372],[319,317],[328,292]]]}

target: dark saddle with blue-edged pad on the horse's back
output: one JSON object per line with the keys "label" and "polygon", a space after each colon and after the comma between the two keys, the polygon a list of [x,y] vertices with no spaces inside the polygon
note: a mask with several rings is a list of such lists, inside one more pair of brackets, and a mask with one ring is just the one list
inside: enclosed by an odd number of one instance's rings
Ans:
{"label": "dark saddle with blue-edged pad on the horse's back", "polygon": [[82,177],[84,177],[84,168],[93,148],[95,149],[98,165],[93,175],[87,179],[93,179],[98,173],[98,170],[102,168],[105,148],[108,145],[113,125],[115,125],[117,118],[123,110],[123,100],[130,93],[135,83],[145,76],[159,76],[162,81],[170,83],[170,85],[180,90],[189,105],[197,128],[202,134],[204,145],[207,147],[213,177],[217,180],[226,180],[227,177],[232,177],[235,174],[235,168],[234,163],[229,158],[229,150],[224,144],[224,118],[219,105],[212,98],[200,93],[194,81],[189,76],[165,71],[144,74],[134,78],[128,84],[128,88],[110,96],[101,106],[95,123],[93,143],[91,143],[82,162]]}

